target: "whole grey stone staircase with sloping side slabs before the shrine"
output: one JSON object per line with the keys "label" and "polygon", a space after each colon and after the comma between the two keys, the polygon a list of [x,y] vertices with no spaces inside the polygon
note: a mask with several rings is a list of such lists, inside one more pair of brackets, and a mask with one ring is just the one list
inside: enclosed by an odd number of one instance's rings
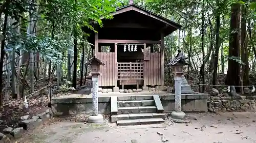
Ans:
{"label": "whole grey stone staircase with sloping side slabs before the shrine", "polygon": [[165,115],[158,95],[112,96],[111,123],[117,125],[144,125],[163,123]]}

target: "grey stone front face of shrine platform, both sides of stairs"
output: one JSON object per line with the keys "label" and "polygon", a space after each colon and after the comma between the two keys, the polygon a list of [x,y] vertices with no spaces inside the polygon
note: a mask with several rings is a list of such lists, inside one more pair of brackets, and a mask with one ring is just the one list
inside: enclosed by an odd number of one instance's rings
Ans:
{"label": "grey stone front face of shrine platform, both sides of stairs", "polygon": [[[159,95],[159,97],[164,107],[164,111],[175,110],[174,95]],[[86,97],[52,98],[51,104],[52,104],[53,114],[55,116],[91,114],[92,106],[93,106],[92,98],[86,98]],[[192,112],[207,111],[207,94],[182,95],[182,110],[192,111]],[[106,114],[111,113],[110,97],[99,97],[99,113],[106,113]]]}

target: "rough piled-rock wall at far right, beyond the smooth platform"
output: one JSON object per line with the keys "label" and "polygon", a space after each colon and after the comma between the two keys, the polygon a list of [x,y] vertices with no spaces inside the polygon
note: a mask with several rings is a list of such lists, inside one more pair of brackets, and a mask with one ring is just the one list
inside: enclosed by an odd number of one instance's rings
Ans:
{"label": "rough piled-rock wall at far right, beyond the smooth platform", "polygon": [[231,97],[208,97],[208,111],[255,111],[255,100],[239,99],[232,100]]}

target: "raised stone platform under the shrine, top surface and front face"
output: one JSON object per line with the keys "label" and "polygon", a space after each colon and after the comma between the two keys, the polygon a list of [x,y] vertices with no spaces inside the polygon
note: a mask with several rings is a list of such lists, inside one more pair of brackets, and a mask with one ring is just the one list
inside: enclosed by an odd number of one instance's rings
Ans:
{"label": "raised stone platform under the shrine, top surface and front face", "polygon": [[[164,111],[175,110],[174,93],[151,93],[143,91],[140,93],[106,93],[99,94],[99,113],[110,114],[112,111],[111,98],[117,104],[118,101],[134,101],[134,100],[154,100],[154,95],[159,95],[159,99]],[[115,98],[114,98],[115,97]],[[182,110],[184,112],[206,112],[207,111],[207,94],[182,94]],[[77,114],[92,113],[92,96],[83,94],[68,94],[51,99],[54,116],[67,116]],[[138,101],[135,101],[138,102]],[[117,107],[118,105],[116,105]],[[160,107],[158,107],[160,108]],[[115,110],[115,111],[114,111]],[[113,108],[113,112],[118,112],[117,108]]]}

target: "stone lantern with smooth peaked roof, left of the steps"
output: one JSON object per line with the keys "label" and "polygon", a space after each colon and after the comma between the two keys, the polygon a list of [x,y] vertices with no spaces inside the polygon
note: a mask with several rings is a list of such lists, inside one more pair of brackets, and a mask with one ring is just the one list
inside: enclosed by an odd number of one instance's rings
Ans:
{"label": "stone lantern with smooth peaked roof, left of the steps", "polygon": [[102,123],[103,116],[99,114],[98,110],[98,80],[100,75],[99,67],[100,65],[104,66],[105,64],[94,55],[93,58],[88,60],[86,65],[91,65],[93,84],[93,115],[88,118],[88,123]]}

